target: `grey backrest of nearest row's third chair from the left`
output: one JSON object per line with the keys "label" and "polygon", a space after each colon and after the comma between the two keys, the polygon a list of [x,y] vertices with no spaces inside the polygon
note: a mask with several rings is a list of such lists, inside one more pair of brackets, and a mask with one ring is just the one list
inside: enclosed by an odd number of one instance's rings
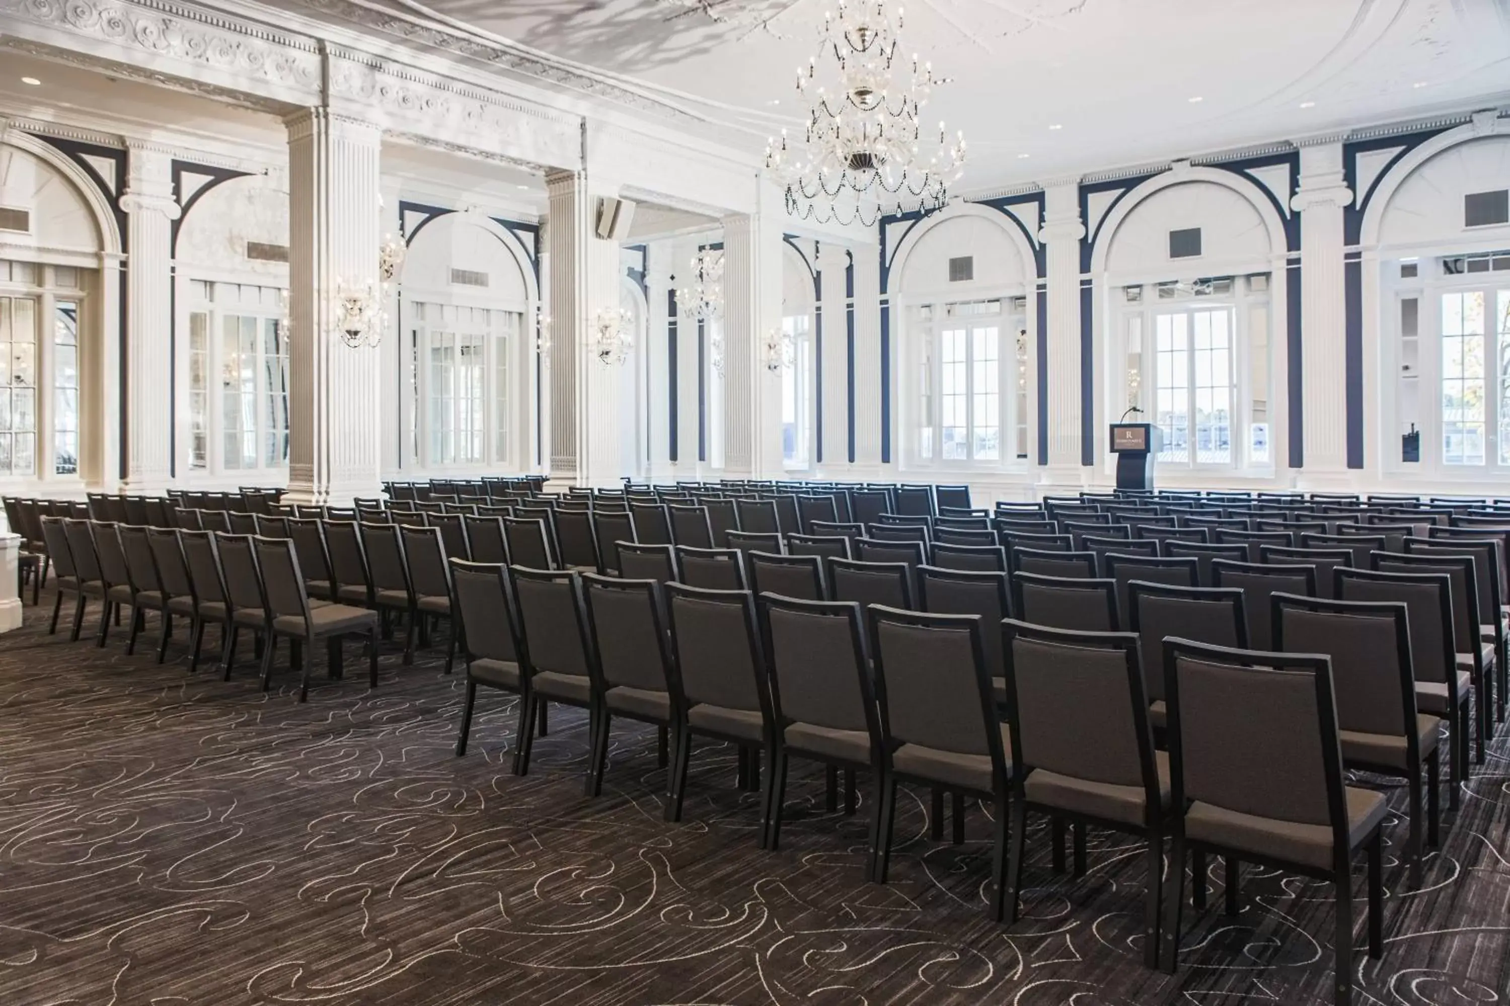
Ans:
{"label": "grey backrest of nearest row's third chair from the left", "polygon": [[587,573],[581,590],[604,688],[676,695],[661,585]]}

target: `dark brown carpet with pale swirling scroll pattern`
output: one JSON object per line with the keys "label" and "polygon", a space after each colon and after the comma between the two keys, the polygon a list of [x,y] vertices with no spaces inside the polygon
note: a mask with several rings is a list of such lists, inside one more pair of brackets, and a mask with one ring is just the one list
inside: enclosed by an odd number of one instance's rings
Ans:
{"label": "dark brown carpet with pale swirling scroll pattern", "polygon": [[[985,916],[991,822],[927,839],[898,799],[891,884],[862,879],[861,813],[824,810],[794,763],[782,851],[755,846],[757,796],[726,748],[695,748],[686,822],[661,820],[654,730],[613,735],[604,795],[581,795],[583,718],[553,709],[527,778],[507,772],[513,704],[483,692],[473,747],[436,655],[381,686],[355,673],[293,700],[236,677],[45,635],[0,638],[0,1003],[876,1006],[880,1003],[1330,1001],[1330,890],[1244,875],[1246,906],[1191,917],[1175,977],[1143,968],[1143,861],[1092,833],[1090,870],[1028,836],[1025,919]],[[94,618],[86,623],[92,627]],[[153,626],[156,633],[156,626]],[[211,633],[213,636],[213,633]],[[151,647],[146,647],[148,650]],[[1477,1006],[1510,983],[1507,760],[1501,736],[1463,810],[1406,888],[1386,858],[1386,950],[1354,958],[1359,1003]],[[904,790],[906,792],[906,790]],[[1392,805],[1403,790],[1392,792]],[[1445,798],[1444,798],[1445,807]],[[1388,839],[1404,842],[1395,819]],[[1386,857],[1389,854],[1386,852]],[[1362,870],[1356,893],[1362,894]]]}

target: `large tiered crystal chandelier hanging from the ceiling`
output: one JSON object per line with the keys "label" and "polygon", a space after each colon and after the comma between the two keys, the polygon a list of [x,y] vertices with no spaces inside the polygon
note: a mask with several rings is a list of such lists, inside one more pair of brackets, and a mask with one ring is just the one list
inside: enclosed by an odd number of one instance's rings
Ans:
{"label": "large tiered crystal chandelier hanging from the ceiling", "polygon": [[[782,131],[766,145],[766,167],[787,186],[787,213],[873,226],[883,214],[930,213],[948,201],[965,134],[950,140],[939,122],[938,148],[921,151],[923,106],[941,81],[917,56],[911,74],[895,66],[900,29],[901,8],[891,12],[885,0],[840,0],[837,15],[823,15],[818,54],[797,69],[797,92],[811,103],[806,136],[788,140]],[[814,86],[829,54],[837,86]]]}

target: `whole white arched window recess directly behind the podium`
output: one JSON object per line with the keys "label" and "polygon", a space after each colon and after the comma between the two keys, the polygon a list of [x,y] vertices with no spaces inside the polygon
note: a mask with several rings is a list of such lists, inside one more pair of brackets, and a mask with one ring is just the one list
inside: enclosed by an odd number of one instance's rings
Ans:
{"label": "whole white arched window recess directly behind the podium", "polygon": [[[1160,427],[1161,469],[1274,469],[1270,231],[1241,193],[1170,184],[1131,207],[1105,256],[1107,413]],[[1284,249],[1279,249],[1282,253]]]}

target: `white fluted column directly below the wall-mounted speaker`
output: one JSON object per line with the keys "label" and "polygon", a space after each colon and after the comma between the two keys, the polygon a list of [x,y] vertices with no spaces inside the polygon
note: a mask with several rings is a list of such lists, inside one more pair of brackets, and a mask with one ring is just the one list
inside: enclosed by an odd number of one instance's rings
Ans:
{"label": "white fluted column directly below the wall-mounted speaker", "polygon": [[[619,481],[619,365],[593,351],[601,312],[619,309],[619,244],[595,232],[596,196],[586,172],[545,176],[551,256],[550,474],[581,486]],[[627,365],[627,363],[625,363]]]}

